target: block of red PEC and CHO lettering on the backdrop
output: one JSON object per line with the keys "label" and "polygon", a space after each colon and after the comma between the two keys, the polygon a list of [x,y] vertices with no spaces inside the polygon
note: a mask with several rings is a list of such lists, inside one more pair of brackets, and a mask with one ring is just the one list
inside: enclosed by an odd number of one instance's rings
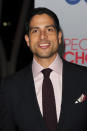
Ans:
{"label": "block of red PEC and CHO lettering on the backdrop", "polygon": [[87,63],[87,38],[65,38],[65,49],[64,59],[69,59],[70,62],[79,64]]}

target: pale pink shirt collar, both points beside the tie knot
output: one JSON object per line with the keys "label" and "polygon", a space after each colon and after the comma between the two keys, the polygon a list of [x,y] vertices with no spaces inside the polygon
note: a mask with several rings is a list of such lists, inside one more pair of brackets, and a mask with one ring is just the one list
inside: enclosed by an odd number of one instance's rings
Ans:
{"label": "pale pink shirt collar, both points beside the tie knot", "polygon": [[[55,60],[49,65],[48,68],[52,69],[53,71],[61,75],[62,74],[62,65],[63,65],[62,59],[60,58],[59,55],[57,55]],[[39,63],[37,63],[37,61],[33,58],[33,63],[32,63],[33,76],[34,77],[37,76],[43,69],[44,67],[42,67]]]}

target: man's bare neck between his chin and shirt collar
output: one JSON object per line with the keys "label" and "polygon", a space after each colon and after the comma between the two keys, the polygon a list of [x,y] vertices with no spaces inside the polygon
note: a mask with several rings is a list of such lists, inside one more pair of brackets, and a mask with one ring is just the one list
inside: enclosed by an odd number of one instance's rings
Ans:
{"label": "man's bare neck between his chin and shirt collar", "polygon": [[57,54],[49,58],[40,58],[40,57],[34,56],[34,59],[37,61],[37,63],[39,63],[44,68],[48,68],[49,65],[55,60],[56,56]]}

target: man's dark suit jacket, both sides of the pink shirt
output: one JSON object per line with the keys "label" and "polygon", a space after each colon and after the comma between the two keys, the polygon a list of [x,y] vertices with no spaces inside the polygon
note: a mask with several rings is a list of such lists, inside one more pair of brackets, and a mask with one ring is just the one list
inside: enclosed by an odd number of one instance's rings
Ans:
{"label": "man's dark suit jacket, both sides of the pink shirt", "polygon": [[[63,60],[62,104],[57,131],[87,131],[87,68]],[[41,115],[34,88],[31,66],[5,80],[1,91],[2,131],[48,131]],[[1,131],[0,130],[0,131]]]}

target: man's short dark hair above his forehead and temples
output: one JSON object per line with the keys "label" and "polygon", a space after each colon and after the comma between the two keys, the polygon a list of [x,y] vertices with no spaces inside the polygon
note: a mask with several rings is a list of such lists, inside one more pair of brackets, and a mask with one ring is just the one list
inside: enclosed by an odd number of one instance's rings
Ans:
{"label": "man's short dark hair above his forehead and temples", "polygon": [[41,14],[47,14],[50,17],[52,17],[52,19],[54,20],[55,23],[55,27],[57,29],[57,32],[60,31],[60,25],[59,25],[59,20],[57,15],[51,11],[50,9],[44,8],[44,7],[39,7],[39,8],[34,8],[30,11],[30,13],[28,14],[28,17],[26,18],[26,34],[29,33],[29,24],[31,19],[33,18],[33,16],[35,15],[41,15]]}

